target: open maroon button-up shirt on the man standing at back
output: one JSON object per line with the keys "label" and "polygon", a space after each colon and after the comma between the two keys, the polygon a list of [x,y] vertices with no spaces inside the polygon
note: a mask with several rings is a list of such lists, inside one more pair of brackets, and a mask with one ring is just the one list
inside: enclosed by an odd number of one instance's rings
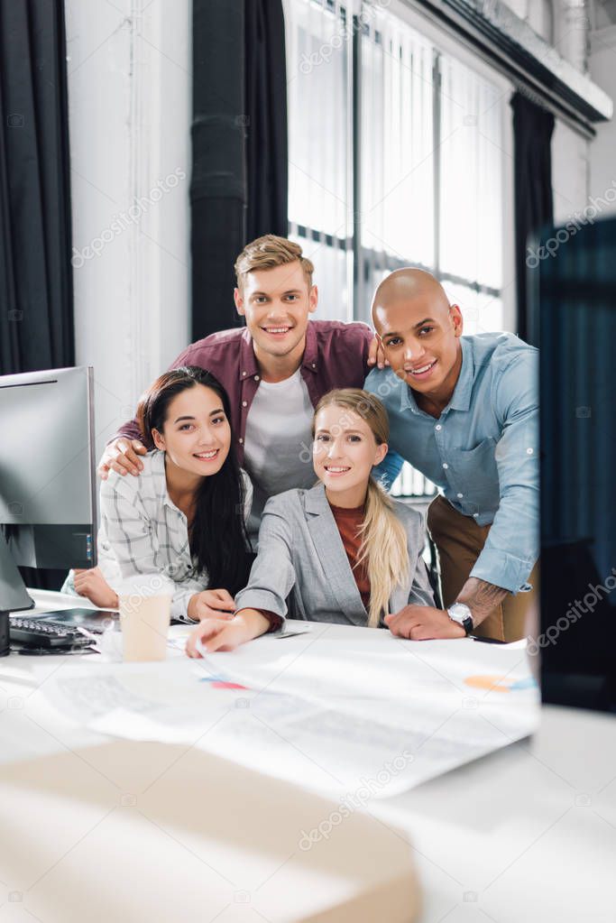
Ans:
{"label": "open maroon button-up shirt on the man standing at back", "polygon": [[[367,324],[346,324],[341,320],[308,322],[301,371],[313,407],[333,388],[363,388],[364,379],[372,369],[368,366],[368,352],[373,336]],[[238,461],[243,464],[246,418],[260,380],[248,329],[221,330],[192,343],[169,367],[179,366],[207,369],[227,391]],[[140,439],[136,420],[121,426],[114,438],[119,436]]]}

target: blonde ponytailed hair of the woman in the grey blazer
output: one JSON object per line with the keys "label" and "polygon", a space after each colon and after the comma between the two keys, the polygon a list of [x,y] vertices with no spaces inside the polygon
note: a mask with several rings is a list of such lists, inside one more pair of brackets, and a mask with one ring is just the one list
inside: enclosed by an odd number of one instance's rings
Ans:
{"label": "blonde ponytailed hair of the woman in the grey blazer", "polygon": [[[331,405],[349,410],[370,426],[377,445],[389,439],[389,420],[382,402],[368,391],[341,388],[329,391],[317,403],[314,420],[322,407]],[[313,438],[314,438],[313,420]],[[398,583],[409,576],[407,533],[394,511],[394,503],[383,487],[371,477],[363,522],[357,564],[365,563],[370,580],[368,626],[377,628],[387,614],[389,597]]]}

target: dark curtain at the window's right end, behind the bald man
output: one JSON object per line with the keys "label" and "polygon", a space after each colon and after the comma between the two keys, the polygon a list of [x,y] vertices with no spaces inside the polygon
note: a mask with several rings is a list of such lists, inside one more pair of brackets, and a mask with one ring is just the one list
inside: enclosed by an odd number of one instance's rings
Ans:
{"label": "dark curtain at the window's right end, behind the bald man", "polygon": [[551,196],[551,135],[554,116],[516,92],[514,110],[515,161],[515,273],[517,292],[517,332],[529,338],[528,281],[536,272],[534,260],[527,265],[527,246],[535,234],[553,220]]}

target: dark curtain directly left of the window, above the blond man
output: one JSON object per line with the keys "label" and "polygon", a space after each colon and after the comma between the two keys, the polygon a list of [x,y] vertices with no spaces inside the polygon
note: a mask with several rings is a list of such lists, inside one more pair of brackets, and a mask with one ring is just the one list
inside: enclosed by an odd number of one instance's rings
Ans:
{"label": "dark curtain directly left of the window, above the blond man", "polygon": [[287,62],[281,0],[246,0],[246,241],[287,236]]}

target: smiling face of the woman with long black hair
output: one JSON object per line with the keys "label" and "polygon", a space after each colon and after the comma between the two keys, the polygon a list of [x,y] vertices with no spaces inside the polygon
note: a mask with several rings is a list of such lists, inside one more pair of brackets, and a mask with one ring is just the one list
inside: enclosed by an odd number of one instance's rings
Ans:
{"label": "smiling face of the woman with long black hair", "polygon": [[197,476],[216,474],[231,446],[231,426],[219,395],[195,384],[176,394],[167,407],[162,432],[152,430],[157,449],[167,453],[180,471]]}

